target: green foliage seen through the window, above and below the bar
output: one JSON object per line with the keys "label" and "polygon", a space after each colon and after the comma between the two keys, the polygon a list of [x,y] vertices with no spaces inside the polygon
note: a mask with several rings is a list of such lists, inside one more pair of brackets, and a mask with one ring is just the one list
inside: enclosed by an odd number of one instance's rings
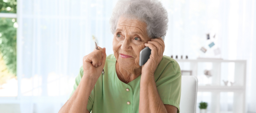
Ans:
{"label": "green foliage seen through the window, above and below the bar", "polygon": [[[0,0],[0,13],[16,12],[17,0]],[[9,78],[10,75],[16,75],[15,27],[17,25],[16,19],[0,18],[0,84],[3,83],[5,78]]]}

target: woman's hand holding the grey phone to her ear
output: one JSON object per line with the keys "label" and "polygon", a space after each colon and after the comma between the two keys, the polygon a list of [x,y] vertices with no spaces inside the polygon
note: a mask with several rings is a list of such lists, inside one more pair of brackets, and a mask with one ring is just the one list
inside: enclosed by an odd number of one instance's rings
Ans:
{"label": "woman's hand holding the grey phone to her ear", "polygon": [[148,61],[142,65],[142,73],[154,75],[159,62],[162,60],[165,51],[165,43],[162,38],[155,38],[150,39],[150,41],[144,45],[151,49],[151,55]]}

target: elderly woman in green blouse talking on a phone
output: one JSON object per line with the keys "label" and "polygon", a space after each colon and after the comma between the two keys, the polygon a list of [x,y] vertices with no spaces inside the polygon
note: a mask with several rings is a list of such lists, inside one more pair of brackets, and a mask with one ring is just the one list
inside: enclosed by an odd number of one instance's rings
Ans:
{"label": "elderly woman in green blouse talking on a phone", "polygon": [[[74,89],[59,112],[180,112],[180,66],[163,56],[160,38],[166,35],[167,23],[167,11],[158,0],[118,1],[110,19],[114,54],[106,56],[106,49],[98,47],[83,57]],[[151,55],[140,66],[145,47]]]}

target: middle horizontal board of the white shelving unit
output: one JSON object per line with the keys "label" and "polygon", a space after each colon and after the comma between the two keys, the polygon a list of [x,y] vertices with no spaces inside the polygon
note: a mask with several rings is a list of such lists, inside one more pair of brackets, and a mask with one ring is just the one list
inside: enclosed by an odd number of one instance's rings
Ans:
{"label": "middle horizontal board of the white shelving unit", "polygon": [[227,91],[245,91],[244,86],[198,86],[197,91],[219,91],[219,92],[227,92]]}

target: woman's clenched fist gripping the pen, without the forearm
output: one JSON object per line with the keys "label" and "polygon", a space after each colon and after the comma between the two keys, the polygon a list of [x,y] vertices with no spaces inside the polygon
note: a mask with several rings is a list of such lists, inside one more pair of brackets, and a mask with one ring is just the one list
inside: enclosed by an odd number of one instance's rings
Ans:
{"label": "woman's clenched fist gripping the pen, without the forearm", "polygon": [[93,52],[83,57],[83,77],[97,81],[102,73],[106,61],[106,48],[94,49]]}

